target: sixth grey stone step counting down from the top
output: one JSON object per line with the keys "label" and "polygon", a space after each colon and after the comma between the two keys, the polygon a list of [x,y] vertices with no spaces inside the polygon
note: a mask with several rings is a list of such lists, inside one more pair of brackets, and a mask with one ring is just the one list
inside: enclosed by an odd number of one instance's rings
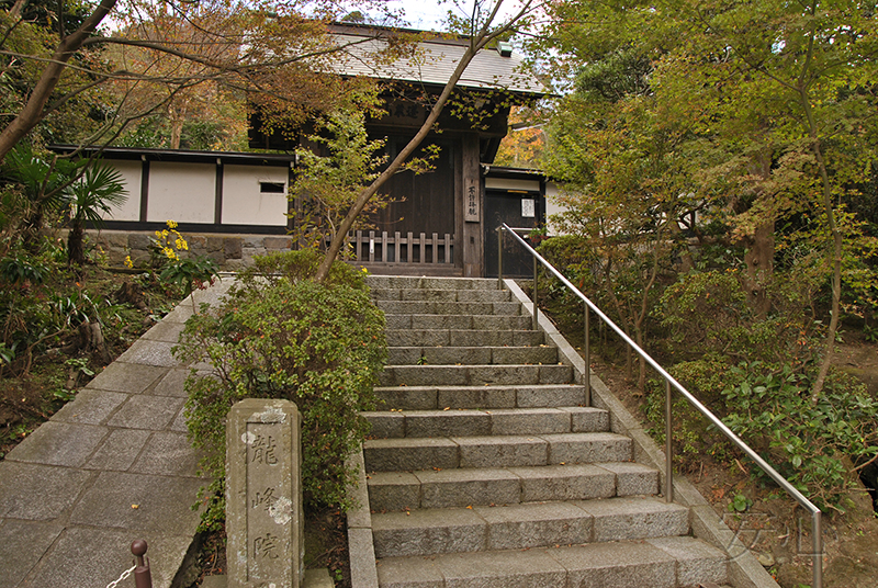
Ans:
{"label": "sixth grey stone step counting down from the top", "polygon": [[391,347],[390,365],[556,364],[555,347]]}

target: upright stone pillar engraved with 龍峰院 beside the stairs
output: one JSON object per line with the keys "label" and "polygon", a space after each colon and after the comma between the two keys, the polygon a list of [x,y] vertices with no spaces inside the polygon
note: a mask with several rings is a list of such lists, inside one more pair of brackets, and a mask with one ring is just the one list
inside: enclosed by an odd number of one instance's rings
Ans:
{"label": "upright stone pillar engraved with \u9f8d\u5cf0\u9662 beside the stairs", "polygon": [[304,575],[300,416],[294,403],[247,398],[226,422],[229,588],[299,588]]}

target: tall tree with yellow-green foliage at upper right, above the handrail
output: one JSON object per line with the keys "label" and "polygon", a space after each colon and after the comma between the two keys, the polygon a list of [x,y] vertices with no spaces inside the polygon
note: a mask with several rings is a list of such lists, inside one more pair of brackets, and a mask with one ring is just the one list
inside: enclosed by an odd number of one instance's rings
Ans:
{"label": "tall tree with yellow-green foliage at upper right, above the handrail", "polygon": [[831,282],[817,399],[837,332],[845,260],[858,247],[841,203],[876,158],[875,3],[663,0],[553,9],[565,23],[556,38],[574,66],[620,50],[646,59],[651,112],[690,129],[678,146],[690,162],[684,190],[723,212],[730,236],[747,248],[745,285],[763,314],[776,223],[804,219]]}

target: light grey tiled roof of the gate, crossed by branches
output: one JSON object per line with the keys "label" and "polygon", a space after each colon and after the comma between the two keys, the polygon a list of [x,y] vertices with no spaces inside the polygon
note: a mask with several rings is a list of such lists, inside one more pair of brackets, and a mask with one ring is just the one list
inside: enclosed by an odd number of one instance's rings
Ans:
{"label": "light grey tiled roof of the gate, crossed by branches", "polygon": [[[468,41],[436,37],[420,41],[412,52],[391,63],[376,59],[387,41],[368,32],[336,32],[340,45],[348,45],[346,57],[335,67],[348,76],[367,76],[427,86],[444,86],[466,50]],[[520,55],[503,56],[496,48],[476,54],[458,86],[464,88],[505,89],[521,94],[549,94],[550,91],[524,66]]]}

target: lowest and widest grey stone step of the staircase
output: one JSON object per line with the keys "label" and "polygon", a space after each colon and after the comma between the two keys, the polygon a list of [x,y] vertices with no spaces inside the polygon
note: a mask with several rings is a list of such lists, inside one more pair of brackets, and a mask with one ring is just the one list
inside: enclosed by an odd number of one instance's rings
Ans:
{"label": "lowest and widest grey stone step of the staircase", "polygon": [[381,588],[683,588],[723,584],[722,552],[689,536],[386,557]]}

